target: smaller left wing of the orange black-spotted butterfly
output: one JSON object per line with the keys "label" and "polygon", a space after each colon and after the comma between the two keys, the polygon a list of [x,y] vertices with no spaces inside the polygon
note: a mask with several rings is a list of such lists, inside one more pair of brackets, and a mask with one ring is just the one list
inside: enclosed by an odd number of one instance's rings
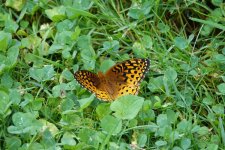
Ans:
{"label": "smaller left wing of the orange black-spotted butterfly", "polygon": [[101,80],[96,74],[90,71],[80,70],[74,74],[74,77],[78,83],[91,93],[94,93],[98,99],[105,101],[111,100],[110,95],[101,88]]}

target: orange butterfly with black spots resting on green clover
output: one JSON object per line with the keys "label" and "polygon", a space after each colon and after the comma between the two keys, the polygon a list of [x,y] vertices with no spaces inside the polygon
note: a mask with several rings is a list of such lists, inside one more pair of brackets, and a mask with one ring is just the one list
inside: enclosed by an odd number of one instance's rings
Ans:
{"label": "orange butterfly with black spots resting on green clover", "polygon": [[74,77],[98,99],[113,101],[123,95],[137,95],[149,66],[149,59],[134,58],[114,65],[105,74],[80,70]]}

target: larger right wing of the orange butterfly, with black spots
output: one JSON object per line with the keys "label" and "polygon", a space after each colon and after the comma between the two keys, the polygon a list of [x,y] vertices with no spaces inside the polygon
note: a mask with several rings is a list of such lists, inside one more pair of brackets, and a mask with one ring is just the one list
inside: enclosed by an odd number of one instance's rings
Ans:
{"label": "larger right wing of the orange butterfly, with black spots", "polygon": [[116,92],[113,97],[122,95],[138,94],[139,84],[149,70],[150,61],[148,59],[130,59],[116,64],[106,72],[109,82],[115,82]]}

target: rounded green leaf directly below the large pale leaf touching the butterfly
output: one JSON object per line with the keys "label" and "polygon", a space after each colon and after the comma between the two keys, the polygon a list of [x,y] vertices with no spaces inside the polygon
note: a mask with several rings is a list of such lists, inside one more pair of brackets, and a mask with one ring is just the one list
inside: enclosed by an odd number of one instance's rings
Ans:
{"label": "rounded green leaf directly below the large pale leaf touching the butterfly", "polygon": [[118,134],[122,129],[122,120],[113,116],[107,115],[101,119],[101,127],[110,135]]}

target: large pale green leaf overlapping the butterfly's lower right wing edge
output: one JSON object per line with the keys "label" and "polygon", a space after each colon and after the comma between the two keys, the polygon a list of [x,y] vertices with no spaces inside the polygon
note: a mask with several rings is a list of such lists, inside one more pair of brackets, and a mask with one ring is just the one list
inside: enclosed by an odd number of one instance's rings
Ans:
{"label": "large pale green leaf overlapping the butterfly's lower right wing edge", "polygon": [[136,117],[144,102],[144,98],[135,95],[121,96],[112,102],[110,109],[120,119],[131,120]]}

